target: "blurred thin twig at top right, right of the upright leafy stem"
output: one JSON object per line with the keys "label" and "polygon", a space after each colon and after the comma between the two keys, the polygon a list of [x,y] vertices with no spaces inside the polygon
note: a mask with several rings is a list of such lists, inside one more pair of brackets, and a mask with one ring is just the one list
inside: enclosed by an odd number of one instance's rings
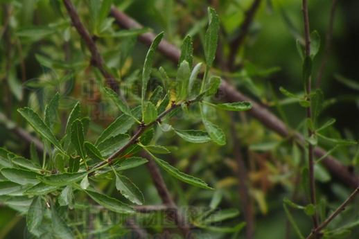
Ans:
{"label": "blurred thin twig at top right, right of the upright leafy stem", "polygon": [[323,56],[323,60],[320,63],[320,68],[317,74],[317,82],[315,82],[315,88],[319,88],[320,84],[322,83],[324,69],[326,67],[326,61],[328,60],[329,53],[331,52],[331,38],[333,37],[333,26],[334,26],[334,16],[335,10],[337,9],[337,0],[333,0],[331,5],[331,16],[329,17],[329,28],[328,33],[326,34],[326,46],[325,52]]}

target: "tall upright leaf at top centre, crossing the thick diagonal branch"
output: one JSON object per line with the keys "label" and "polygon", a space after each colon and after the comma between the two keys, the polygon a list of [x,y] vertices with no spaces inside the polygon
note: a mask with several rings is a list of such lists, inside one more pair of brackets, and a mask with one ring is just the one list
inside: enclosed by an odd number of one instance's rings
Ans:
{"label": "tall upright leaf at top centre, crossing the thick diagonal branch", "polygon": [[220,20],[216,10],[208,8],[209,26],[204,36],[204,56],[206,57],[207,67],[211,67],[214,57],[216,57],[216,49],[218,42],[218,30],[220,28]]}

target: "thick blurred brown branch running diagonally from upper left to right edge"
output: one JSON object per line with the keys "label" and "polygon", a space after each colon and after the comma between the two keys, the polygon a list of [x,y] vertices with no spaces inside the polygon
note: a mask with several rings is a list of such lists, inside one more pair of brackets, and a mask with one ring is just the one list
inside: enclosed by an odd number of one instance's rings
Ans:
{"label": "thick blurred brown branch running diagonally from upper left to right edge", "polygon": [[[123,12],[117,10],[114,6],[112,6],[111,8],[110,15],[112,15],[112,17],[115,18],[116,24],[119,24],[123,28],[142,28],[142,26],[138,24],[136,21],[134,21],[134,19],[131,19]],[[156,35],[153,33],[145,33],[139,35],[138,39],[143,44],[150,46],[150,44],[155,39],[155,37]],[[169,44],[165,40],[161,41],[159,47],[157,48],[157,51],[159,51],[162,55],[167,57],[169,60],[175,62],[175,64],[177,64],[178,60],[180,59],[180,55],[181,55],[180,49],[173,46],[172,44]],[[294,136],[301,143],[306,142],[304,136],[302,136],[297,132],[292,132],[292,130],[288,130],[286,124],[283,123],[283,121],[279,120],[277,116],[274,116],[274,114],[269,112],[268,109],[262,107],[251,98],[248,98],[247,96],[243,96],[243,94],[240,94],[239,91],[237,91],[234,87],[229,85],[224,80],[222,80],[219,91],[224,92],[225,99],[229,103],[234,103],[238,101],[249,101],[250,103],[252,103],[252,109],[249,109],[247,113],[250,116],[256,118],[258,121],[260,121],[265,127],[268,127],[268,129],[277,132],[277,134],[283,137]],[[326,151],[323,150],[322,148],[315,147],[314,154],[315,157],[321,158],[324,156],[324,154],[326,154]],[[326,157],[325,159],[323,159],[322,164],[324,167],[326,167],[326,169],[329,170],[329,172],[331,172],[333,176],[340,179],[343,183],[347,184],[348,186],[351,186],[352,188],[358,187],[359,177],[354,175],[353,172],[348,170],[347,166],[344,166],[342,163],[335,160],[333,157],[331,156]]]}

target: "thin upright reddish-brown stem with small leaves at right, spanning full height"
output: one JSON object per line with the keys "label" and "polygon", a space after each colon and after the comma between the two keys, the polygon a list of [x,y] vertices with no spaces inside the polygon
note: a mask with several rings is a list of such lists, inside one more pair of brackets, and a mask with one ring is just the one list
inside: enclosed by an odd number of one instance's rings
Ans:
{"label": "thin upright reddish-brown stem with small leaves at right, spanning full height", "polygon": [[[303,11],[303,17],[304,17],[304,35],[306,39],[306,57],[310,57],[310,30],[309,30],[309,17],[308,17],[308,4],[307,0],[303,0],[303,6],[301,8]],[[310,95],[310,81],[311,77],[309,76],[308,79],[306,79],[306,94]],[[310,101],[310,97],[307,96],[307,100]],[[306,108],[306,116],[310,120],[312,117],[312,107],[311,104],[309,107]],[[310,127],[308,127],[308,137],[312,136],[313,132],[310,130]],[[314,178],[314,145],[312,143],[308,143],[308,169],[309,169],[309,194],[310,194],[310,202],[316,206],[316,200],[315,200],[315,178]],[[317,218],[317,210],[315,210],[313,214],[313,224],[314,228],[316,229],[319,225],[318,218]],[[320,236],[317,235],[317,239],[319,239]]]}

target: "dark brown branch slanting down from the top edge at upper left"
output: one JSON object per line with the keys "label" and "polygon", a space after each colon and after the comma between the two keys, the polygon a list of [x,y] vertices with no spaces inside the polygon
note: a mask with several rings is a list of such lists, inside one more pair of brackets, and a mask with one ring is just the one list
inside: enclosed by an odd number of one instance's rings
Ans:
{"label": "dark brown branch slanting down from the top edge at upper left", "polygon": [[81,38],[85,42],[86,46],[89,48],[89,51],[92,55],[91,64],[93,64],[95,67],[97,67],[100,72],[102,73],[103,77],[105,78],[107,85],[110,86],[111,89],[113,89],[123,102],[126,103],[125,98],[121,96],[119,83],[116,81],[116,78],[112,76],[112,74],[105,70],[104,67],[104,60],[103,57],[100,54],[100,51],[98,51],[98,48],[94,42],[94,39],[92,39],[91,35],[85,28],[84,24],[82,24],[82,21],[80,17],[78,16],[78,13],[76,12],[75,6],[73,6],[73,3],[71,0],[62,0],[64,3],[65,8],[67,9],[67,12],[69,12],[69,15],[71,17],[71,21],[73,26],[75,26],[76,30],[80,34]]}

